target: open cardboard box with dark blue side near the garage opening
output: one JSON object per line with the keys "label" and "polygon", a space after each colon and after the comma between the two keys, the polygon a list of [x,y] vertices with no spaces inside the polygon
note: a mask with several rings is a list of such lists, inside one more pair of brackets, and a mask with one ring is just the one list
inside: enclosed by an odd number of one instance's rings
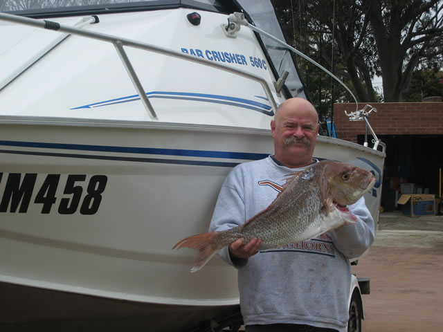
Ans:
{"label": "open cardboard box with dark blue side near the garage opening", "polygon": [[435,216],[435,195],[403,194],[397,201],[407,216]]}

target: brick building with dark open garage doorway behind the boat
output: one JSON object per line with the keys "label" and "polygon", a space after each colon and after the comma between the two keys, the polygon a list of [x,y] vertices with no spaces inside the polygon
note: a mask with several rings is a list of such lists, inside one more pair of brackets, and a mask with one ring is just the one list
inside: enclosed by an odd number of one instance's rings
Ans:
{"label": "brick building with dark open garage doorway behind the boat", "polygon": [[[364,105],[359,104],[359,109]],[[401,183],[413,183],[403,187],[413,187],[414,193],[428,192],[439,197],[443,189],[440,180],[440,172],[443,172],[443,102],[386,102],[371,103],[371,106],[377,109],[377,113],[370,113],[371,127],[386,143],[383,207],[388,211],[395,209]],[[365,122],[350,121],[345,115],[345,111],[355,110],[355,104],[334,104],[336,135],[362,144]],[[370,146],[371,139],[368,131]]]}

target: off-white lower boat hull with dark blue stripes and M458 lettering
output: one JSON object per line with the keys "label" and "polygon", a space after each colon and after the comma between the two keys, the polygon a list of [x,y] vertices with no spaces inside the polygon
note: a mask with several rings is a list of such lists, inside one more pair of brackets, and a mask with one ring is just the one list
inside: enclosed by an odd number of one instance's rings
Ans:
{"label": "off-white lower boat hull with dark blue stripes and M458 lettering", "polygon": [[[172,246],[208,230],[225,176],[271,154],[270,131],[126,125],[0,125],[0,280],[136,302],[237,304],[235,269],[216,258],[191,274],[195,251]],[[381,153],[332,138],[318,139],[315,156],[377,173],[356,159],[362,150],[382,169]],[[377,219],[379,186],[374,194],[366,201]]]}

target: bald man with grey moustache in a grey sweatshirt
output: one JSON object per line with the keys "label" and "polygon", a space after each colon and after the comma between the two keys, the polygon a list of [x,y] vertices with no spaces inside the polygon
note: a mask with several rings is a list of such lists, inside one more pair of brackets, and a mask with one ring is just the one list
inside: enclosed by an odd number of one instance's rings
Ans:
{"label": "bald man with grey moustache in a grey sweatshirt", "polygon": [[[281,190],[287,174],[316,163],[312,158],[318,116],[310,102],[291,98],[271,121],[275,154],[238,165],[221,187],[210,232],[241,225],[264,210]],[[302,243],[258,252],[260,239],[237,239],[219,251],[238,269],[240,306],[246,331],[346,331],[350,258],[374,240],[374,221],[360,199],[348,208],[358,216],[345,225]]]}

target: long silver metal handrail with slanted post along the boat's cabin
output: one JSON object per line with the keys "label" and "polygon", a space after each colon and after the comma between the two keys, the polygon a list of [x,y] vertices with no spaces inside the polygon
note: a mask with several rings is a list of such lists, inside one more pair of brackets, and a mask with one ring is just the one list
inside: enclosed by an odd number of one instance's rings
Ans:
{"label": "long silver metal handrail with slanted post along the boat's cabin", "polygon": [[[98,17],[94,17],[96,20],[96,23],[98,22]],[[121,61],[123,62],[123,65],[126,68],[126,71],[129,75],[129,77],[132,80],[132,83],[134,84],[134,87],[138,93],[138,95],[141,98],[141,101],[147,110],[147,112],[150,114],[150,117],[153,120],[158,120],[156,116],[156,112],[154,111],[154,108],[152,107],[152,104],[147,98],[147,95],[145,93],[145,90],[143,89],[143,86],[138,79],[138,76],[136,75],[136,71],[134,70],[134,67],[132,66],[132,63],[129,60],[129,57],[127,56],[127,53],[125,52],[125,49],[123,46],[138,48],[141,50],[147,50],[154,53],[159,53],[162,55],[167,55],[170,57],[176,57],[178,59],[183,59],[189,62],[195,62],[197,64],[202,64],[204,66],[210,66],[212,68],[217,68],[221,71],[227,71],[228,73],[233,73],[235,75],[239,75],[242,77],[245,77],[249,80],[253,80],[255,82],[258,82],[261,84],[264,93],[266,94],[266,98],[268,98],[269,103],[271,104],[271,108],[273,112],[275,113],[277,109],[277,104],[275,102],[275,99],[273,98],[273,94],[271,91],[271,88],[269,87],[268,82],[263,77],[260,77],[258,75],[254,75],[252,73],[248,73],[247,71],[243,71],[238,68],[226,66],[224,64],[219,64],[217,62],[211,62],[207,59],[202,59],[199,57],[195,57],[193,55],[188,55],[186,53],[180,53],[176,50],[171,50],[168,48],[163,48],[161,46],[156,46],[152,44],[147,44],[143,42],[138,42],[134,39],[127,39],[123,37],[118,37],[115,35],[109,35],[105,33],[98,33],[90,30],[83,30],[80,28],[76,28],[73,26],[66,26],[63,24],[59,24],[55,21],[48,21],[48,20],[39,20],[39,19],[30,19],[28,17],[21,17],[17,15],[10,15],[4,12],[0,12],[0,21],[10,21],[17,24],[24,24],[26,26],[33,26],[35,28],[42,28],[46,30],[55,30],[60,33],[68,33],[70,35],[77,35],[80,37],[86,37],[90,39],[98,39],[102,42],[109,42],[114,45],[116,48],[116,51],[118,55],[120,56]]]}

